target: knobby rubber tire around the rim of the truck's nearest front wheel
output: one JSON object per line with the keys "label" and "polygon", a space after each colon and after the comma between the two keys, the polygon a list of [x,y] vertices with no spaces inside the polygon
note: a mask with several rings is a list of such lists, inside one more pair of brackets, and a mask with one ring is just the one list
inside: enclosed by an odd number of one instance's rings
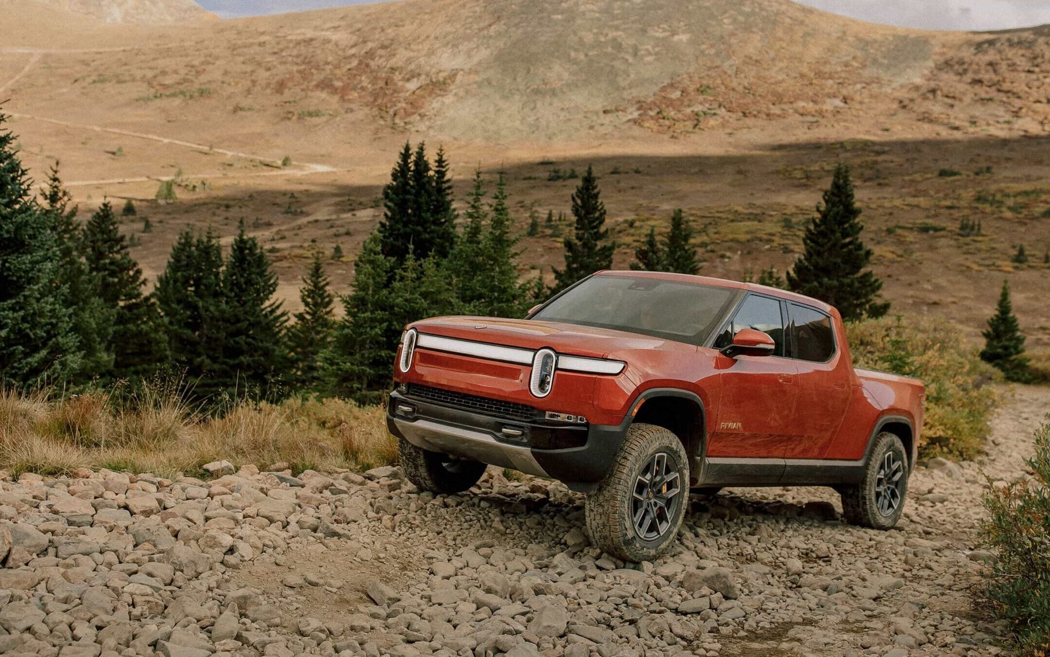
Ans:
{"label": "knobby rubber tire around the rim of the truck's nearest front wheel", "polygon": [[[678,474],[677,504],[669,514],[670,526],[656,539],[647,541],[634,528],[631,511],[636,481],[650,459],[666,454]],[[587,495],[587,531],[601,550],[628,561],[653,561],[674,541],[689,506],[689,460],[678,437],[653,424],[632,424],[627,429],[612,469]]]}

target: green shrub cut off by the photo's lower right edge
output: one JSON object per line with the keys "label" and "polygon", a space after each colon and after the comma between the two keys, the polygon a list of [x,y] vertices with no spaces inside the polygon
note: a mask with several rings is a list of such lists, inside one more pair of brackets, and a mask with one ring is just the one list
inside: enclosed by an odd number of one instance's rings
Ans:
{"label": "green shrub cut off by the photo's lower right edge", "polygon": [[1035,432],[1033,478],[989,486],[983,531],[999,552],[985,594],[992,612],[1013,629],[1018,654],[1050,653],[1050,424]]}

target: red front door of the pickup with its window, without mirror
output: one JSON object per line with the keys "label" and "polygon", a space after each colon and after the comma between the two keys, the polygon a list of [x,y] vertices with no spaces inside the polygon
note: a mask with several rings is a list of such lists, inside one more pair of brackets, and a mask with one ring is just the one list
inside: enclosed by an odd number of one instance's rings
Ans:
{"label": "red front door of the pickup with its window, without mirror", "polygon": [[741,328],[755,328],[772,337],[776,349],[772,356],[720,357],[727,362],[719,373],[721,399],[709,459],[774,459],[782,465],[798,396],[796,362],[786,357],[785,311],[779,299],[749,294],[715,342],[720,348]]}

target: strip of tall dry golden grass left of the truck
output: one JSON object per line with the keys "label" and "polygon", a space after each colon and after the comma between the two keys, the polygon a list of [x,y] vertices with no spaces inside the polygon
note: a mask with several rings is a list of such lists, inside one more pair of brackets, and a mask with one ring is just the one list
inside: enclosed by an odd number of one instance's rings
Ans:
{"label": "strip of tall dry golden grass left of the truck", "polygon": [[166,384],[130,397],[0,390],[0,468],[64,474],[105,467],[171,476],[201,474],[201,466],[219,459],[260,468],[287,464],[294,471],[397,462],[397,443],[378,406],[334,399],[242,402],[211,417],[188,404],[184,391]]}

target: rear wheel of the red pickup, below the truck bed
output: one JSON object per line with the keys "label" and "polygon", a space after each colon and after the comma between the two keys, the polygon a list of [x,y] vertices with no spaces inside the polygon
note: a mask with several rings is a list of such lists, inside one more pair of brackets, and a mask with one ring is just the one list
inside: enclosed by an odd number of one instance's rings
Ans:
{"label": "rear wheel of the red pickup, below the truck bed", "polygon": [[864,479],[857,486],[839,489],[842,516],[847,523],[890,529],[904,511],[908,492],[908,458],[897,436],[885,431],[875,439]]}

